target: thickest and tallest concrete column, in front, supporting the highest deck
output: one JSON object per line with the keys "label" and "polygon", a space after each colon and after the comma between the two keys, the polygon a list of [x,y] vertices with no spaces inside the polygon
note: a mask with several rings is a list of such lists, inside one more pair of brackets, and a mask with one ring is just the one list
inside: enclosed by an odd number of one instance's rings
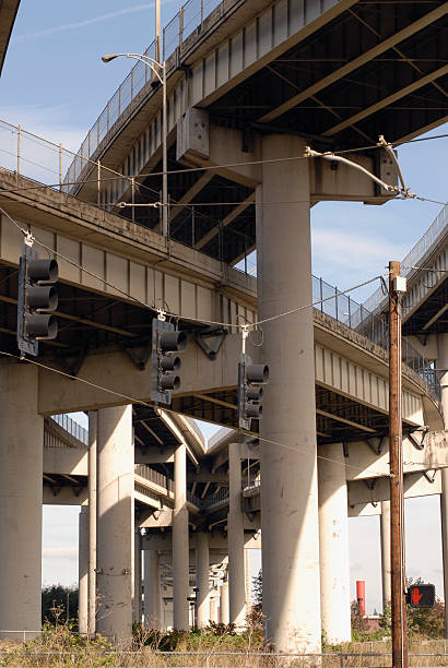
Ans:
{"label": "thickest and tallest concrete column, in front, supporting the highest deck", "polygon": [[[304,154],[290,135],[260,140],[261,158]],[[263,163],[257,188],[258,313],[313,301],[309,160]],[[319,522],[313,309],[262,325],[261,523],[266,640],[285,652],[320,652]],[[280,444],[278,444],[280,443]],[[232,605],[232,604],[231,604]]]}

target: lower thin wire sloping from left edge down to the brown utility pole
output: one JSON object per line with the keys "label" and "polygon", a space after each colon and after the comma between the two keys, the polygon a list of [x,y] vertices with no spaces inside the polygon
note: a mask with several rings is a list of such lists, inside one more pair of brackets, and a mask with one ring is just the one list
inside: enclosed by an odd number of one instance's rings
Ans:
{"label": "lower thin wire sloping from left edge down to the brown utility pole", "polygon": [[[80,378],[79,375],[71,375],[70,373],[67,373],[66,371],[60,371],[59,369],[55,369],[54,367],[49,367],[48,365],[43,365],[42,362],[38,362],[34,359],[28,359],[26,358],[25,360],[21,359],[19,357],[19,355],[14,355],[13,353],[7,353],[5,350],[0,350],[0,355],[3,355],[4,357],[10,357],[13,359],[16,359],[21,362],[28,362],[31,365],[34,365],[36,367],[39,367],[40,369],[45,369],[46,371],[51,371],[54,373],[57,373],[58,375],[62,375],[64,378],[69,378],[71,381],[78,381],[81,383],[84,383],[85,385],[89,385],[91,387],[93,387],[94,390],[101,390],[102,392],[107,392],[108,394],[111,394],[114,396],[117,396],[121,399],[126,399],[127,402],[130,402],[131,404],[137,404],[140,406],[145,406],[146,408],[160,408],[160,406],[157,406],[156,404],[150,404],[149,402],[145,402],[143,399],[139,399],[135,398],[133,396],[129,396],[128,394],[123,394],[122,392],[117,392],[116,390],[111,390],[110,387],[105,387],[104,385],[98,385],[97,383],[94,383],[85,378]],[[163,411],[166,413],[172,413],[174,415],[179,415],[179,413],[177,410],[173,410],[172,408],[160,408]],[[191,417],[191,416],[189,416]],[[232,427],[231,427],[232,429]],[[245,432],[244,430],[238,430],[235,429],[235,431],[240,431],[241,433],[245,433],[245,436],[251,436],[254,438],[257,438],[260,441],[266,441],[267,443],[273,444],[273,445],[278,445],[279,448],[285,448],[286,450],[291,450],[293,452],[296,453],[300,453],[300,454],[309,454],[309,451],[307,450],[302,450],[298,448],[294,448],[292,445],[287,445],[285,443],[281,443],[280,441],[271,441],[269,439],[264,439],[262,437],[260,437],[257,432],[251,432],[251,431],[247,431]],[[339,464],[340,466],[344,466],[344,467],[349,467],[349,468],[354,468],[357,472],[363,472],[365,470],[364,468],[362,468],[361,466],[355,466],[353,464],[346,464],[345,462],[339,462],[338,460],[332,460],[331,457],[325,457],[321,455],[317,455],[318,460],[326,460],[328,462],[332,462],[334,464]],[[377,472],[377,470],[373,470],[373,474],[375,474],[378,477],[388,477],[390,474],[386,473],[386,472]]]}

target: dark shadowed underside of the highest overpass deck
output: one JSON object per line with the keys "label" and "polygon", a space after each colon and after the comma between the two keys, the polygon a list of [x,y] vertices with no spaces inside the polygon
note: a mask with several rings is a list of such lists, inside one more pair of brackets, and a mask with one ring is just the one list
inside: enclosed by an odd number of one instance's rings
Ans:
{"label": "dark shadowed underside of the highest overpass deck", "polygon": [[[431,0],[356,2],[200,106],[209,111],[210,123],[241,131],[243,151],[252,148],[255,133],[264,132],[299,134],[317,150],[372,147],[381,134],[389,142],[418,135],[448,118],[448,20],[443,5]],[[219,50],[214,57],[217,71]],[[191,56],[188,65],[193,62]],[[251,189],[222,176],[207,180],[203,171],[175,174],[186,164],[176,162],[174,139],[168,153],[175,213],[170,235],[188,246],[199,243],[202,252],[224,262],[240,260],[256,247],[254,203],[227,220]],[[143,174],[162,170],[161,163],[150,163]],[[198,183],[188,204],[179,206]],[[142,179],[135,202],[158,201],[161,189],[160,176]],[[131,216],[130,210],[125,212]],[[157,211],[137,208],[133,215],[142,225],[160,225]]]}

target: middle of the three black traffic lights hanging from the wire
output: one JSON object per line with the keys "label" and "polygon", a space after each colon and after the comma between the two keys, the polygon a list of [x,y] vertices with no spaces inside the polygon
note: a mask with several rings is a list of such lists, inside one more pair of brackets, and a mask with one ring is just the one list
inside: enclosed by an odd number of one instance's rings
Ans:
{"label": "middle of the three black traffic lights hanging from the wire", "polygon": [[172,322],[153,319],[150,396],[157,404],[169,405],[173,390],[180,385],[176,371],[180,369],[181,361],[175,353],[181,353],[186,346],[185,332],[177,331]]}

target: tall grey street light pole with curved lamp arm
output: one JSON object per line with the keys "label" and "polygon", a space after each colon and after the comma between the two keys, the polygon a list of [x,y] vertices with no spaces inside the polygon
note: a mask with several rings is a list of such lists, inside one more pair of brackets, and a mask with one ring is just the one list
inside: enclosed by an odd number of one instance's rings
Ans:
{"label": "tall grey street light pole with curved lamp arm", "polygon": [[[156,45],[160,47],[160,35]],[[102,56],[103,62],[110,62],[115,58],[125,57],[140,60],[151,68],[162,84],[162,235],[168,237],[168,148],[167,148],[167,119],[166,119],[166,62],[160,62],[143,53],[105,53]]]}

